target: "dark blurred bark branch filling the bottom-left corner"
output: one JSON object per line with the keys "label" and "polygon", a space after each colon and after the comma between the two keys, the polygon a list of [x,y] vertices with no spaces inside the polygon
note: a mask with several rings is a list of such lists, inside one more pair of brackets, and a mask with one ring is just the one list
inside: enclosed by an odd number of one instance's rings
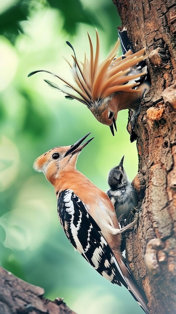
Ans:
{"label": "dark blurred bark branch filling the bottom-left corner", "polygon": [[76,314],[63,299],[48,300],[44,292],[0,267],[0,314]]}

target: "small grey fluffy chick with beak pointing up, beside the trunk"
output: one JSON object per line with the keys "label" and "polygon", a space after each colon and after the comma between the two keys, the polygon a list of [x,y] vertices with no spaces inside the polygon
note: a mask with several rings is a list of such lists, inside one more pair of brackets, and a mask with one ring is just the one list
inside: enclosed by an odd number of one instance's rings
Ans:
{"label": "small grey fluffy chick with beak pointing up, beside the trunk", "polygon": [[108,184],[110,189],[106,192],[114,205],[117,219],[121,217],[120,224],[128,217],[130,210],[137,206],[138,198],[135,189],[131,185],[123,168],[122,157],[118,166],[112,168],[108,174]]}

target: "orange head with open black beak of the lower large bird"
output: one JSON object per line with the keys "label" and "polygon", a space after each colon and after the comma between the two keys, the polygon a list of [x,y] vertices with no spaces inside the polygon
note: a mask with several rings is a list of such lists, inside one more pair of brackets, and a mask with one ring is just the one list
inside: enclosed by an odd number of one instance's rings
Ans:
{"label": "orange head with open black beak of the lower large bird", "polygon": [[76,168],[79,153],[94,138],[90,138],[81,145],[89,134],[80,138],[73,145],[55,147],[43,153],[34,162],[34,169],[38,172],[43,172],[47,180],[54,184],[62,170],[69,171]]}

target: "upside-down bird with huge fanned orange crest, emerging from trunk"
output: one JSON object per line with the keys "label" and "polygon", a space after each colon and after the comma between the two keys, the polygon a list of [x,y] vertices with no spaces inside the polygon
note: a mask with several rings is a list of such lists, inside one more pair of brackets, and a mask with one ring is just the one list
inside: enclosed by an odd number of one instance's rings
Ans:
{"label": "upside-down bird with huge fanned orange crest, emerging from trunk", "polygon": [[[103,61],[100,61],[99,56],[100,41],[97,30],[95,52],[88,33],[90,59],[85,53],[83,61],[77,60],[73,46],[66,42],[73,51],[73,66],[67,61],[71,68],[73,83],[46,70],[33,71],[28,77],[38,72],[47,72],[60,79],[66,84],[64,87],[46,79],[44,81],[50,87],[66,94],[66,98],[76,99],[85,104],[99,122],[110,127],[114,135],[114,128],[117,130],[118,111],[131,109],[136,112],[150,86],[149,82],[145,80],[146,63],[143,64],[142,62],[142,66],[140,65],[140,62],[146,58],[144,55],[145,48],[133,53],[131,49],[128,49],[129,40],[125,43],[127,37],[123,35],[125,32],[126,30],[119,32],[120,39]],[[125,39],[124,43],[122,42],[123,38]],[[120,40],[122,48],[127,48],[123,49],[125,52],[123,56],[117,57]]]}

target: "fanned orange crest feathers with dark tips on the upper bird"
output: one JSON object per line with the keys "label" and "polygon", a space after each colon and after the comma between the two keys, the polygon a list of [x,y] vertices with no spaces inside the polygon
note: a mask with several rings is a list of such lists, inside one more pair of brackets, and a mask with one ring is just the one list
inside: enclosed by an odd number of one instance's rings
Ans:
{"label": "fanned orange crest feathers with dark tips on the upper bird", "polygon": [[[38,72],[46,72],[54,75],[55,77],[59,78],[61,81],[66,83],[70,86],[76,93],[79,94],[79,97],[75,97],[75,95],[68,95],[72,98],[75,98],[82,103],[86,104],[88,107],[92,107],[95,101],[99,99],[105,98],[110,94],[117,92],[117,91],[130,91],[135,92],[133,87],[137,86],[138,83],[128,83],[129,78],[131,80],[135,80],[136,78],[140,77],[145,74],[145,72],[141,72],[140,70],[132,71],[131,67],[136,66],[140,61],[144,59],[144,51],[145,49],[141,49],[140,51],[132,54],[132,52],[125,55],[125,58],[122,59],[121,57],[115,58],[118,47],[120,45],[120,41],[118,40],[115,44],[114,48],[110,51],[109,55],[105,58],[103,62],[100,63],[99,60],[99,36],[96,30],[96,51],[95,55],[93,52],[93,45],[88,34],[89,45],[90,45],[90,60],[87,59],[85,56],[84,62],[80,62],[76,58],[75,50],[70,42],[66,42],[67,45],[72,49],[74,56],[74,67],[75,74],[73,78],[77,85],[74,86],[69,83],[67,80],[63,79],[62,77],[45,70],[38,70],[31,72],[28,77],[38,73]],[[128,77],[128,73],[130,72],[130,77]],[[51,85],[51,87],[53,87]],[[57,88],[57,87],[54,87]],[[65,94],[66,91],[62,90]]]}

